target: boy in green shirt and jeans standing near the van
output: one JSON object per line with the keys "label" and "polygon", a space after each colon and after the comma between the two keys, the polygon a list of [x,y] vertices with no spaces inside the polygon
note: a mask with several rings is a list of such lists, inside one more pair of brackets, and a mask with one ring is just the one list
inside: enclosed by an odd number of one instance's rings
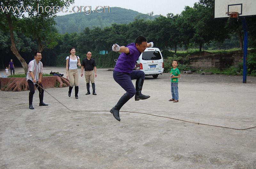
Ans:
{"label": "boy in green shirt and jeans standing near the van", "polygon": [[172,61],[173,68],[171,69],[171,93],[172,93],[172,99],[169,99],[169,101],[173,101],[174,103],[179,102],[179,91],[178,91],[178,78],[180,77],[180,70],[177,68],[178,61],[174,60]]}

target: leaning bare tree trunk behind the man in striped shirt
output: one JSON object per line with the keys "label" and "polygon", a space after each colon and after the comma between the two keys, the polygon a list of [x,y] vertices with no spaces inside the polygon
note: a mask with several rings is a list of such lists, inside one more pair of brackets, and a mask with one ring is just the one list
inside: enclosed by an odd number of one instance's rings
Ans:
{"label": "leaning bare tree trunk behind the man in striped shirt", "polygon": [[13,35],[13,25],[12,25],[12,20],[11,20],[11,14],[7,13],[6,17],[7,17],[7,21],[8,21],[8,24],[9,24],[10,36],[11,36],[11,42],[12,42],[11,51],[19,59],[21,65],[22,65],[22,67],[25,71],[25,74],[27,74],[27,72],[28,72],[28,63],[21,57],[18,49],[16,48],[16,43],[15,43],[14,35]]}

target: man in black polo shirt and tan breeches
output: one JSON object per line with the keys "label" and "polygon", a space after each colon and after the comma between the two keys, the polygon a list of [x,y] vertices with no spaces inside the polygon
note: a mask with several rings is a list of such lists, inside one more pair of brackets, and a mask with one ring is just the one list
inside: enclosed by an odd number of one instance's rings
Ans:
{"label": "man in black polo shirt and tan breeches", "polygon": [[95,72],[95,77],[97,77],[96,63],[95,63],[95,60],[92,59],[91,52],[87,52],[86,56],[87,56],[87,58],[84,58],[84,60],[82,61],[82,64],[81,64],[81,77],[83,77],[83,72],[84,72],[86,88],[87,88],[86,94],[91,94],[90,93],[90,81],[91,81],[92,94],[97,95],[95,93],[95,83],[94,83],[94,72]]}

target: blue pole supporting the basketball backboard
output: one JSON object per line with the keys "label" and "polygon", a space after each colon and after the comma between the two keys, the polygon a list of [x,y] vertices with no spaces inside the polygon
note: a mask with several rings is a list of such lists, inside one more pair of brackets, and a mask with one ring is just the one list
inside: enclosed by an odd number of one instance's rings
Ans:
{"label": "blue pole supporting the basketball backboard", "polygon": [[241,17],[244,28],[244,66],[243,66],[243,83],[246,83],[247,76],[247,48],[248,48],[248,30],[244,17]]}

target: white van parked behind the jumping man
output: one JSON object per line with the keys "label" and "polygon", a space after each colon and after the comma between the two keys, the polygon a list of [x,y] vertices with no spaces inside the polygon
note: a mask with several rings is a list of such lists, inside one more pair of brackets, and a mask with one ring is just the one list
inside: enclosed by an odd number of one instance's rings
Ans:
{"label": "white van parked behind the jumping man", "polygon": [[137,62],[140,64],[140,70],[144,71],[146,76],[157,78],[164,72],[164,59],[158,48],[146,48]]}

